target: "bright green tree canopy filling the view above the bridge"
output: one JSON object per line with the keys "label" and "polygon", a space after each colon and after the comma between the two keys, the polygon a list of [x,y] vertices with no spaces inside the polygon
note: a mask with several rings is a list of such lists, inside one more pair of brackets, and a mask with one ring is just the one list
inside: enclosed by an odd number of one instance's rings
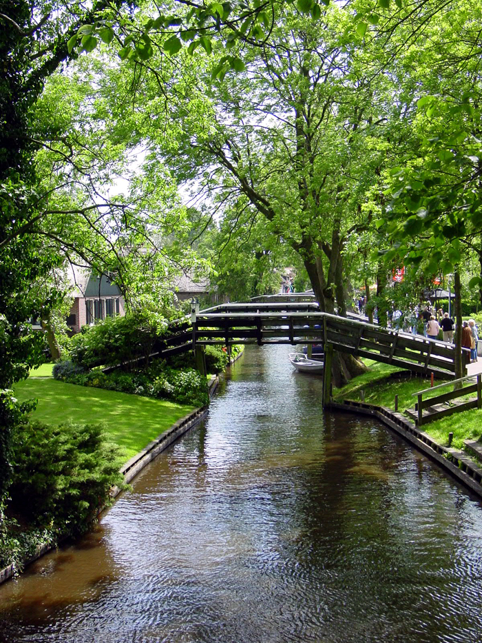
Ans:
{"label": "bright green tree canopy filling the view above the bridge", "polygon": [[353,280],[482,265],[481,11],[0,0],[0,460],[66,262],[154,310],[182,269],[248,294],[297,261],[339,314]]}

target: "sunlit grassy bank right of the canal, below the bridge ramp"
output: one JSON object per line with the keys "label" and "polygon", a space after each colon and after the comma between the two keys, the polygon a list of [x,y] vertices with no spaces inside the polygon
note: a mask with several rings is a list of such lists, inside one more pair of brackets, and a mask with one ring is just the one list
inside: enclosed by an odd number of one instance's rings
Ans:
{"label": "sunlit grassy bank right of the canal, below the bridge ramp", "polygon": [[[395,396],[398,396],[398,409],[403,413],[406,409],[413,409],[417,401],[414,393],[430,387],[430,378],[411,377],[397,378],[394,376],[401,369],[381,364],[373,360],[364,360],[370,371],[359,376],[341,389],[333,390],[335,401],[364,400],[388,409],[395,409]],[[437,380],[436,385],[443,383]],[[434,391],[434,395],[440,391]],[[430,396],[424,396],[424,398]],[[482,410],[471,409],[456,413],[447,418],[423,425],[423,431],[428,433],[440,445],[448,445],[448,434],[454,434],[452,447],[463,449],[463,440],[479,440],[482,438]]]}

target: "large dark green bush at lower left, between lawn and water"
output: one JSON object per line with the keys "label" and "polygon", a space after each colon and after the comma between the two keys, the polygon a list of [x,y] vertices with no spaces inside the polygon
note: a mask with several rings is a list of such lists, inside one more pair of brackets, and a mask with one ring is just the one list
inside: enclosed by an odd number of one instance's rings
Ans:
{"label": "large dark green bush at lower left, between lawn and water", "polygon": [[101,425],[31,422],[15,438],[11,507],[38,526],[81,533],[123,484],[120,452]]}

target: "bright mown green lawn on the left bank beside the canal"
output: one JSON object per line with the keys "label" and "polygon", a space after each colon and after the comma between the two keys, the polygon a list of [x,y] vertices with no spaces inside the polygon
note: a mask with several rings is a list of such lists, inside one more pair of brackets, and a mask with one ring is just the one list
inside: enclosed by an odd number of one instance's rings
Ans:
{"label": "bright mown green lawn on the left bank beside the canal", "polygon": [[[45,366],[45,365],[44,365]],[[51,424],[67,420],[82,424],[103,422],[112,442],[132,458],[160,433],[195,407],[137,395],[65,384],[52,378],[29,378],[15,385],[23,402],[38,398],[32,418]]]}

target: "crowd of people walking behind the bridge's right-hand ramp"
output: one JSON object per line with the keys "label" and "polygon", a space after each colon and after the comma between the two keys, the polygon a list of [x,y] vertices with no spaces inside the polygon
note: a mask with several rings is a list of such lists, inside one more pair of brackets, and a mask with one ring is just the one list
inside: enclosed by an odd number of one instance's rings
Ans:
{"label": "crowd of people walking behind the bridge's right-hand ramp", "polygon": [[[359,314],[366,314],[366,297],[356,300]],[[375,314],[376,316],[376,314]],[[397,307],[388,312],[388,326],[396,330],[404,330],[414,335],[420,334],[429,339],[438,339],[442,331],[443,341],[453,343],[455,322],[448,312],[442,308],[434,309],[430,300],[423,306],[412,307],[405,314]],[[470,349],[470,362],[477,362],[477,346],[479,333],[473,319],[462,324],[462,346]]]}

